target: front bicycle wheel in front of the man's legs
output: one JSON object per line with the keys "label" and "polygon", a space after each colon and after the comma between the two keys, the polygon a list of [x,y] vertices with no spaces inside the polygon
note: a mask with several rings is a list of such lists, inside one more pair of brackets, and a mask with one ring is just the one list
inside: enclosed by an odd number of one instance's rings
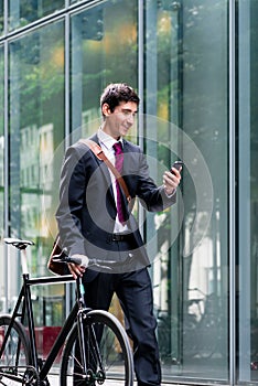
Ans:
{"label": "front bicycle wheel in front of the man's legs", "polygon": [[[112,314],[101,310],[89,311],[83,323],[86,341],[87,374],[82,374],[82,371],[78,374],[77,369],[74,369],[75,364],[79,365],[76,368],[82,368],[82,361],[75,353],[78,336],[77,325],[75,325],[63,351],[61,386],[112,385],[115,379],[118,379],[123,386],[132,386],[132,353],[121,323]],[[96,358],[96,350],[93,349],[94,334],[98,336],[98,347],[104,368],[100,368],[101,366],[99,366]]]}

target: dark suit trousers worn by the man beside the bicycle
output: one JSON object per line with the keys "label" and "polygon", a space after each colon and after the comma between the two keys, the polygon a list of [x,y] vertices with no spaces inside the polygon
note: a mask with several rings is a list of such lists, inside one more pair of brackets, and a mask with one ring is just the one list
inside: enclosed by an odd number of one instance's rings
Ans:
{"label": "dark suit trousers worn by the man beside the bicycle", "polygon": [[103,274],[85,282],[87,307],[108,310],[114,292],[126,317],[126,329],[133,342],[135,372],[139,386],[161,384],[155,337],[153,294],[147,268],[126,274]]}

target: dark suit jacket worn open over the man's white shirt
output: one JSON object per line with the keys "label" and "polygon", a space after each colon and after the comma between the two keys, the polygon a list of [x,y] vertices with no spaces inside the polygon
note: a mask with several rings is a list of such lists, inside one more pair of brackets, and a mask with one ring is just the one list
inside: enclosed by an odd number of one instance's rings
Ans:
{"label": "dark suit jacket worn open over the man's white shirt", "polygon": [[[97,135],[90,139],[98,142]],[[122,175],[132,203],[138,196],[142,205],[151,212],[172,205],[175,195],[168,197],[163,186],[157,187],[149,175],[149,167],[140,148],[123,140],[123,153]],[[130,254],[127,250],[118,255],[114,250],[114,243],[110,243],[117,208],[109,170],[86,144],[77,142],[67,149],[61,173],[56,219],[62,246],[71,256],[82,254],[93,260],[110,264],[117,261],[115,272],[140,269],[150,264],[138,223],[131,214],[132,205],[128,206],[123,194],[122,199],[128,216],[128,230],[133,242]],[[108,265],[104,264],[106,266]],[[99,267],[93,266],[93,269],[99,270]],[[107,271],[109,269],[108,266]]]}

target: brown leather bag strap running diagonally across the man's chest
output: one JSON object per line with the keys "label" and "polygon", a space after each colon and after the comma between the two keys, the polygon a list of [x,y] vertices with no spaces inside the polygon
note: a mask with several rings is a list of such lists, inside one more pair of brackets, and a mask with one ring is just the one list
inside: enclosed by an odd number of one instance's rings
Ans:
{"label": "brown leather bag strap running diagonally across the man's chest", "polygon": [[111,170],[112,174],[115,175],[116,180],[120,184],[123,193],[126,194],[127,201],[131,201],[131,196],[129,194],[127,184],[119,173],[119,171],[114,167],[114,164],[109,161],[109,159],[105,156],[103,149],[96,142],[94,142],[92,139],[80,139],[79,142],[87,144],[87,147],[93,151],[93,153],[101,161],[106,163],[106,165]]}

